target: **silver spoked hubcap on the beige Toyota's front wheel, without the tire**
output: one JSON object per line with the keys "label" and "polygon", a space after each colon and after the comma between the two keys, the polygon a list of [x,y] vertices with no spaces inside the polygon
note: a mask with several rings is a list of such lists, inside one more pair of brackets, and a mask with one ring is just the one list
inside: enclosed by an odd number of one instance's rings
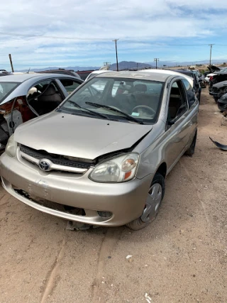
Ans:
{"label": "silver spoked hubcap on the beige Toyota's front wheel, without the tire", "polygon": [[143,214],[140,219],[143,222],[148,222],[155,218],[157,210],[162,201],[162,186],[159,183],[153,184],[148,192],[148,197],[146,199],[145,208],[143,209]]}

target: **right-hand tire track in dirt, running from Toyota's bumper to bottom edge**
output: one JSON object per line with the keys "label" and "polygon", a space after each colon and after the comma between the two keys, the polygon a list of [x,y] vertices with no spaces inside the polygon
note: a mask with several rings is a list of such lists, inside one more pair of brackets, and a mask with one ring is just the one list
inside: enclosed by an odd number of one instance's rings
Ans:
{"label": "right-hand tire track in dirt, running from Toyota's bumper to bottom edge", "polygon": [[107,228],[106,236],[101,243],[99,250],[99,259],[96,265],[96,277],[92,284],[92,303],[105,303],[104,298],[102,297],[103,290],[101,290],[101,279],[105,270],[106,258],[111,255],[116,248],[118,241],[121,238],[121,233],[123,232],[123,227],[119,228]]}

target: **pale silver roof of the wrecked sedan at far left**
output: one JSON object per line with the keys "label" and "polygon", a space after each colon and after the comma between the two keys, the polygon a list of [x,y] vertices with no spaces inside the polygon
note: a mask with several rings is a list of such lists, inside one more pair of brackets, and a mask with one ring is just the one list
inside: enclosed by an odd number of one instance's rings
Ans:
{"label": "pale silver roof of the wrecked sedan at far left", "polygon": [[[56,78],[56,77],[66,77],[66,78],[77,78],[75,76],[71,76],[71,75],[65,75],[65,74],[49,74],[49,73],[45,73],[45,74],[17,74],[17,75],[7,75],[1,78],[1,82],[18,82],[18,83],[22,83],[25,82],[28,79],[33,79],[36,78],[35,80],[39,81],[42,79],[50,79],[50,78]],[[79,78],[77,78],[79,79]],[[79,79],[80,80],[80,79]]]}

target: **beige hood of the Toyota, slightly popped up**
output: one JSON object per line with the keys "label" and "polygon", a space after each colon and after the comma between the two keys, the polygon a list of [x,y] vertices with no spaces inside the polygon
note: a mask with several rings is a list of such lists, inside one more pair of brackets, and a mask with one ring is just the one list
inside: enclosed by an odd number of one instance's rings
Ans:
{"label": "beige hood of the Toyota, slightly popped up", "polygon": [[94,158],[131,148],[152,125],[124,123],[52,112],[16,128],[15,141],[58,155]]}

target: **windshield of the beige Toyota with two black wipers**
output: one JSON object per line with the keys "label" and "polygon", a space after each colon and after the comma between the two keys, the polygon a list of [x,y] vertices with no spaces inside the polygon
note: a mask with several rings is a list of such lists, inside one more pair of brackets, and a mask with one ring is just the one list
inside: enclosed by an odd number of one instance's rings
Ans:
{"label": "windshield of the beige Toyota with two black wipers", "polygon": [[142,79],[95,77],[67,98],[58,111],[88,116],[89,110],[97,113],[99,119],[153,124],[160,111],[163,84]]}

